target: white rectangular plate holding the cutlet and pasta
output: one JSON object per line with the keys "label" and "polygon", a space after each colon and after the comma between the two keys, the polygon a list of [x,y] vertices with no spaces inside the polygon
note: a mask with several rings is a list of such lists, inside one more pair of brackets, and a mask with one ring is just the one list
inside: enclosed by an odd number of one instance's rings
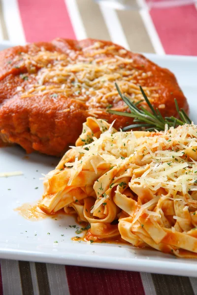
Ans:
{"label": "white rectangular plate holding the cutlet and pasta", "polygon": [[[0,50],[9,47],[1,44]],[[191,118],[197,110],[197,58],[146,56],[175,73],[188,97]],[[196,120],[197,121],[197,120]],[[0,178],[0,258],[77,266],[96,266],[123,270],[147,271],[175,275],[197,275],[197,261],[177,259],[159,251],[142,250],[116,244],[73,242],[74,219],[62,216],[29,221],[14,209],[35,203],[42,195],[41,173],[52,170],[58,159],[39,154],[29,155],[20,147],[0,148],[0,172],[22,171],[23,176]],[[34,179],[35,178],[35,179]],[[38,189],[35,189],[38,187]],[[11,190],[8,190],[11,189]],[[47,233],[50,233],[48,235]],[[64,235],[64,236],[61,236]],[[79,235],[78,235],[79,236]],[[58,243],[54,243],[58,241]]]}

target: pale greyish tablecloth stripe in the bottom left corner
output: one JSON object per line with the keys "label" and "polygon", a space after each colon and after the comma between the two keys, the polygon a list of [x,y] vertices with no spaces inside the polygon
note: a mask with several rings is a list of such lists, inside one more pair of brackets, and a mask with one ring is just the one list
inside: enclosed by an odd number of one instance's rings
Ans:
{"label": "pale greyish tablecloth stripe in the bottom left corner", "polygon": [[1,259],[3,294],[22,295],[21,276],[18,261]]}

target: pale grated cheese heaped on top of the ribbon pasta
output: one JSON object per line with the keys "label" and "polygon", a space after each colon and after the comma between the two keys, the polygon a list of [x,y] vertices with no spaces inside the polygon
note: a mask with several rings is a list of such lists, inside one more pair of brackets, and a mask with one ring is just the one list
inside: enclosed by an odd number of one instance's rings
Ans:
{"label": "pale grated cheese heaped on top of the ribbon pasta", "polygon": [[[78,175],[77,170],[79,171],[83,165],[80,163],[88,161],[88,158],[92,155],[100,156],[104,162],[115,167],[123,165],[132,167],[140,157],[140,168],[135,168],[135,173],[137,175],[138,171],[142,170],[141,177],[133,176],[130,186],[148,187],[152,191],[157,191],[163,187],[172,195],[173,191],[186,194],[189,190],[197,190],[197,162],[185,156],[191,142],[193,146],[197,146],[196,125],[185,124],[176,129],[171,127],[155,136],[140,137],[137,135],[138,132],[132,131],[113,133],[112,124],[106,128],[105,121],[94,120],[99,121],[102,134],[99,139],[93,135],[91,138],[93,142],[90,144],[71,147],[81,153],[81,158],[75,159],[73,167],[75,172],[72,173],[69,183]],[[191,129],[196,137],[189,135]],[[149,134],[147,133],[147,135]],[[157,146],[156,143],[158,143]],[[66,163],[67,167],[72,165],[73,163]],[[98,169],[94,160],[91,160],[91,165],[97,174]]]}

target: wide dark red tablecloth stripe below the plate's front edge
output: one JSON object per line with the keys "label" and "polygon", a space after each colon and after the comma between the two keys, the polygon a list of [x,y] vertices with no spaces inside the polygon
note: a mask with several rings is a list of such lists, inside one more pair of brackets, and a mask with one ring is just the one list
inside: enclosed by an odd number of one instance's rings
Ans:
{"label": "wide dark red tablecloth stripe below the plate's front edge", "polygon": [[139,272],[66,266],[70,295],[145,295]]}

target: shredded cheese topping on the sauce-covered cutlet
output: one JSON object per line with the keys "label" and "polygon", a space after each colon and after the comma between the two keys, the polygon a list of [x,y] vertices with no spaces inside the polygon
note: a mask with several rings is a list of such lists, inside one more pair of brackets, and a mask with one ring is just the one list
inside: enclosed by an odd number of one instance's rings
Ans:
{"label": "shredded cheese topping on the sauce-covered cutlet", "polygon": [[16,61],[19,68],[25,66],[30,74],[29,85],[17,88],[22,97],[50,93],[51,99],[57,100],[64,95],[84,102],[96,117],[98,108],[106,109],[121,100],[115,82],[134,101],[143,99],[139,85],[150,100],[158,96],[157,87],[146,87],[152,73],[144,71],[144,65],[137,69],[133,60],[127,58],[127,51],[115,45],[95,42],[88,48],[68,50],[65,54],[41,48],[34,54],[22,52]]}

